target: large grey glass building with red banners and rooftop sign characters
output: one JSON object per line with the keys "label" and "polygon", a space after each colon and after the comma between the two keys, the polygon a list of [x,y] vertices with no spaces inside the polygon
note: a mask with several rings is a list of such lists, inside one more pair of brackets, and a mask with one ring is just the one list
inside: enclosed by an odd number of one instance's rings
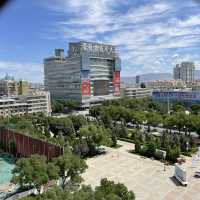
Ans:
{"label": "large grey glass building with red banners and rooftop sign characters", "polygon": [[112,45],[70,43],[44,59],[44,84],[53,99],[73,99],[82,106],[120,97],[121,60]]}

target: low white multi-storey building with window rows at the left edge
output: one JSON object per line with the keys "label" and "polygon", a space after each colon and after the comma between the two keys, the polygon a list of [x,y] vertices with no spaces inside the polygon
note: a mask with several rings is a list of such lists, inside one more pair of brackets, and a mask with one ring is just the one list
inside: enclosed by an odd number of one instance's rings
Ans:
{"label": "low white multi-storey building with window rows at the left edge", "polygon": [[49,92],[38,92],[27,96],[12,96],[0,98],[0,116],[22,116],[25,114],[51,114]]}

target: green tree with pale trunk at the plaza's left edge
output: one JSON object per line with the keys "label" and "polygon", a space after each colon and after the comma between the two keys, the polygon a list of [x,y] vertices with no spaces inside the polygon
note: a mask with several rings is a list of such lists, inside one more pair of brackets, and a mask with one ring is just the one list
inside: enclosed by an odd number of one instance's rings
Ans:
{"label": "green tree with pale trunk at the plaza's left edge", "polygon": [[81,183],[81,173],[85,171],[87,165],[79,156],[73,155],[71,152],[54,159],[55,165],[59,169],[59,176],[62,179],[62,188],[75,186]]}

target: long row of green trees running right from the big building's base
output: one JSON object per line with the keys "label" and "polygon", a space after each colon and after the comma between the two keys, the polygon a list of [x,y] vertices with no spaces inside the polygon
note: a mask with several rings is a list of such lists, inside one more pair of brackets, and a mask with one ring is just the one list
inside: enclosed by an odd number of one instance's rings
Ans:
{"label": "long row of green trees running right from the big building's base", "polygon": [[185,112],[175,112],[171,115],[164,115],[153,111],[133,110],[123,106],[109,105],[96,106],[90,109],[90,115],[102,122],[105,127],[112,128],[117,123],[134,124],[138,128],[147,125],[162,126],[170,132],[172,129],[179,133],[184,131],[186,134],[195,131],[200,134],[200,116],[195,114],[186,114]]}

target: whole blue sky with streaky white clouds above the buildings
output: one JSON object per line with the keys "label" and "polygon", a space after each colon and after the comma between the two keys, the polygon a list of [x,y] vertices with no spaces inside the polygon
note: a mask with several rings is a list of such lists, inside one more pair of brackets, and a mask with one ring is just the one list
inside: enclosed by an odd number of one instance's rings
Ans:
{"label": "whole blue sky with streaky white clouds above the buildings", "polygon": [[43,59],[86,40],[116,45],[122,76],[200,69],[200,0],[10,0],[0,10],[0,77],[43,82]]}

